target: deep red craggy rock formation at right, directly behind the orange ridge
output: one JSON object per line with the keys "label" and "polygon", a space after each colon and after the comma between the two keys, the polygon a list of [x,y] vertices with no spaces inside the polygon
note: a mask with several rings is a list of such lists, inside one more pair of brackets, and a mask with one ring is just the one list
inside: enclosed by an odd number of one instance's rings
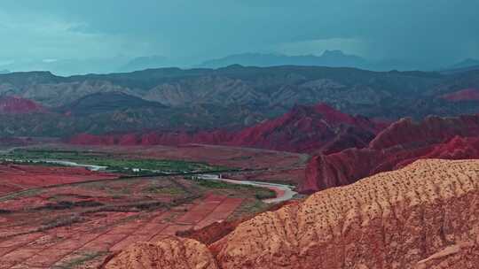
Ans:
{"label": "deep red craggy rock formation at right, directly behind the orange ridge", "polygon": [[375,173],[394,170],[420,158],[479,158],[479,116],[401,119],[365,149],[343,150],[310,159],[300,191],[342,186]]}

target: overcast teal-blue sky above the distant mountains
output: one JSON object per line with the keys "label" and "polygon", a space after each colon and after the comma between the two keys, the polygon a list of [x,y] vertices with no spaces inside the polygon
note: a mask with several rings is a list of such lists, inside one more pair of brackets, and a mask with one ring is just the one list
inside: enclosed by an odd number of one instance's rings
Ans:
{"label": "overcast teal-blue sky above the distant mountains", "polygon": [[324,50],[451,65],[479,58],[477,11],[477,0],[2,0],[0,69],[20,59]]}

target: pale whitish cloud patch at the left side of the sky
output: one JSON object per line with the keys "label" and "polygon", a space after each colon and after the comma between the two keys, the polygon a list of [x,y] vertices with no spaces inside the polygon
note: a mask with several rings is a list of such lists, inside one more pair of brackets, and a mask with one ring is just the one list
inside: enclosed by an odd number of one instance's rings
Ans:
{"label": "pale whitish cloud patch at the left side of the sky", "polygon": [[[132,48],[121,35],[77,31],[84,22],[67,21],[35,13],[0,12],[0,36],[4,36],[0,58],[101,58]],[[136,51],[136,52],[137,52]]]}

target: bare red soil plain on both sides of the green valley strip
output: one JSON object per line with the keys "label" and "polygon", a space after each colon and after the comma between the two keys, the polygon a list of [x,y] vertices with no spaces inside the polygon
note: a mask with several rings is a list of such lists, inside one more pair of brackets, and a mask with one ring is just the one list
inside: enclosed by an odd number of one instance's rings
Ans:
{"label": "bare red soil plain on both sides of the green valley strip", "polygon": [[[292,184],[302,181],[307,161],[296,153],[205,145],[35,147],[202,161],[255,169],[228,177]],[[132,243],[196,233],[267,208],[258,205],[255,191],[205,188],[183,177],[118,176],[78,167],[1,165],[0,268],[98,268]]]}

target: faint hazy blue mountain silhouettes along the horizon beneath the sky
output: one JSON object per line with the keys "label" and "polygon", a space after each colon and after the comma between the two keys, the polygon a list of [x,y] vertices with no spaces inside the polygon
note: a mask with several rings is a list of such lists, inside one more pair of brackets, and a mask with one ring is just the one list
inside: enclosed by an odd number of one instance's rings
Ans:
{"label": "faint hazy blue mountain silhouettes along the horizon beneath the sky", "polygon": [[242,53],[206,60],[200,64],[191,58],[168,58],[159,55],[128,58],[91,58],[91,59],[43,59],[12,61],[0,68],[15,72],[50,71],[56,75],[69,76],[88,73],[129,73],[145,69],[164,67],[180,68],[221,68],[229,65],[271,67],[279,65],[353,67],[372,71],[409,71],[438,70],[443,73],[460,73],[479,69],[479,60],[468,58],[447,68],[439,68],[410,63],[402,60],[371,60],[343,53],[342,50],[326,50],[317,55],[288,56],[275,53]]}

